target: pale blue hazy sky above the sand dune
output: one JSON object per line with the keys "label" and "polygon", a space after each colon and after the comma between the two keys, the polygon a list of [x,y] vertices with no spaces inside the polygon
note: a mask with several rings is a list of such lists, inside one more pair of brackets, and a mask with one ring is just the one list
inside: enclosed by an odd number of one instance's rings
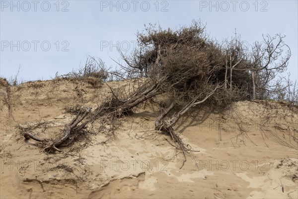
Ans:
{"label": "pale blue hazy sky above the sand dune", "polygon": [[114,69],[117,48],[129,54],[144,25],[175,29],[193,19],[218,41],[235,30],[247,44],[263,34],[286,35],[288,72],[298,79],[297,0],[0,0],[0,76],[14,77],[20,66],[19,81],[48,80],[87,56]]}

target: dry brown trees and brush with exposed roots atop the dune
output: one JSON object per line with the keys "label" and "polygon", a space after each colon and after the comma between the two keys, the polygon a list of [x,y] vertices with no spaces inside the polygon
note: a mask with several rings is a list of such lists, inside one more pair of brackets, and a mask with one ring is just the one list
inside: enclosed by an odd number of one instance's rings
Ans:
{"label": "dry brown trees and brush with exposed roots atop the dune", "polygon": [[[42,142],[43,151],[52,153],[74,142],[79,134],[98,133],[86,126],[99,122],[102,126],[99,131],[108,131],[110,141],[120,126],[120,117],[130,115],[135,107],[146,105],[156,96],[163,96],[166,99],[159,104],[155,130],[168,134],[168,142],[183,153],[182,168],[187,155],[194,159],[193,150],[175,131],[175,124],[193,110],[204,106],[223,108],[239,100],[274,99],[287,100],[291,106],[298,104],[296,84],[288,80],[284,85],[283,78],[277,78],[286,71],[291,56],[282,35],[264,36],[262,42],[253,43],[250,49],[245,49],[235,35],[222,46],[208,37],[200,22],[194,21],[177,30],[150,25],[137,37],[138,49],[131,55],[120,52],[126,63],[119,63],[121,70],[109,71],[103,61],[88,57],[83,68],[56,75],[54,79],[81,80],[93,88],[108,80],[131,80],[128,89],[122,89],[120,84],[118,88],[110,87],[110,95],[98,102],[94,111],[81,105],[67,107],[66,112],[76,116],[59,138],[39,138],[34,135],[34,128],[20,127],[23,136]],[[80,96],[83,91],[77,92]]]}

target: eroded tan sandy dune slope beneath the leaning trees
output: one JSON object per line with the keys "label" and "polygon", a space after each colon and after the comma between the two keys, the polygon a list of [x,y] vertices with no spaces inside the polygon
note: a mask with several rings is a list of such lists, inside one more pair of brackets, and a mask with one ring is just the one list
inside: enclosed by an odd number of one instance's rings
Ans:
{"label": "eroded tan sandy dune slope beneath the leaning trees", "polygon": [[154,130],[158,109],[152,104],[121,118],[113,141],[103,144],[107,135],[98,133],[62,153],[46,154],[39,143],[24,140],[17,125],[41,121],[35,135],[59,137],[74,117],[65,108],[95,108],[108,86],[74,80],[0,83],[1,199],[298,198],[298,108],[287,103],[240,101],[183,118],[176,130],[196,152],[179,169],[183,155]]}

